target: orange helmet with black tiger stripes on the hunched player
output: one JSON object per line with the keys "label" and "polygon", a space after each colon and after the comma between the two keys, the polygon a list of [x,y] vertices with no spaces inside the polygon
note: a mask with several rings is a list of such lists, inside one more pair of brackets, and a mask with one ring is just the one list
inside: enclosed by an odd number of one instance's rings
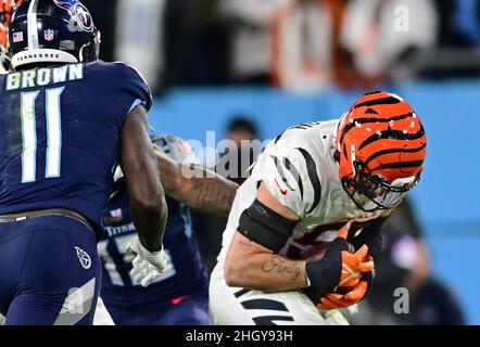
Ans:
{"label": "orange helmet with black tiger stripes on the hunched player", "polygon": [[366,93],[342,116],[336,159],[343,189],[366,211],[393,208],[420,179],[427,137],[402,98]]}

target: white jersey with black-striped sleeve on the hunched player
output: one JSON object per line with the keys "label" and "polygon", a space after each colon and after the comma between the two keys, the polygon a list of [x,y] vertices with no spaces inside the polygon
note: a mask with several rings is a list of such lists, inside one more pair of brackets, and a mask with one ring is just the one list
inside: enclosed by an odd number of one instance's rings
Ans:
{"label": "white jersey with black-striped sleeve on the hunched player", "polygon": [[338,231],[352,221],[351,235],[390,210],[365,213],[343,190],[333,159],[338,119],[298,125],[270,141],[249,179],[238,189],[224,232],[222,265],[240,215],[250,207],[263,181],[268,191],[300,216],[279,254],[292,259],[321,257]]}

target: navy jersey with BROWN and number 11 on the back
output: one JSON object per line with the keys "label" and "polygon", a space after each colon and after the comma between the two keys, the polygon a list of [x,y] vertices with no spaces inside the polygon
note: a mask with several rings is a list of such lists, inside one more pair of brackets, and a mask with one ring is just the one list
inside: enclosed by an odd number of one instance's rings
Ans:
{"label": "navy jersey with BROWN and number 11 on the back", "polygon": [[98,229],[119,131],[150,90],[123,63],[66,64],[0,77],[0,215],[68,208]]}

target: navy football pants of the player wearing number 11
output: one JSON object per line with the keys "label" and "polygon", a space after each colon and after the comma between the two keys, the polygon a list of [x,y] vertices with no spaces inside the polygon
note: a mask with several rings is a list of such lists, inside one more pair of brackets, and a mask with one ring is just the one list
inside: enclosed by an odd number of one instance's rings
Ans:
{"label": "navy football pants of the player wearing number 11", "polygon": [[5,325],[91,324],[100,285],[93,232],[43,216],[0,222],[0,312]]}

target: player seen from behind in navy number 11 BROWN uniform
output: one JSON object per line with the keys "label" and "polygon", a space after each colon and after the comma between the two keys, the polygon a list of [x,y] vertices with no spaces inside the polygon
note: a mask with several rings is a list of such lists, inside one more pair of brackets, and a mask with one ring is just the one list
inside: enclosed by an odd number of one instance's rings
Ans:
{"label": "player seen from behind in navy number 11 BROWN uniform", "polygon": [[138,236],[132,275],[166,267],[167,208],[148,134],[149,88],[97,62],[99,33],[76,0],[25,0],[9,27],[13,72],[0,77],[0,313],[5,324],[89,324],[117,162]]}

